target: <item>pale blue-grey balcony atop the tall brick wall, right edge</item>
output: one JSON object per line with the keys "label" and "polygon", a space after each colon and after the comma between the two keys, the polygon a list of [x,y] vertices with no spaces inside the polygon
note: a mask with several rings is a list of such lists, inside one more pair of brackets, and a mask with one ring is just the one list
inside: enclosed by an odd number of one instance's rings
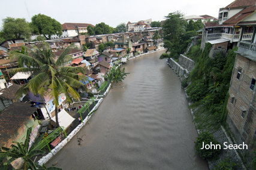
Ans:
{"label": "pale blue-grey balcony atop the tall brick wall, right edge", "polygon": [[256,61],[256,44],[246,41],[241,41],[239,44],[238,52],[243,56]]}

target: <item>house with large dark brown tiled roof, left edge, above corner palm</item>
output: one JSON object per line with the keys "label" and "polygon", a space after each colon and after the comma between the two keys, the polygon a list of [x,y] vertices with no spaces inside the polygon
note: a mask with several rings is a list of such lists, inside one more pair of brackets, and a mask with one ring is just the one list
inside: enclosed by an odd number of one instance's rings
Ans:
{"label": "house with large dark brown tiled roof, left edge, above corner palm", "polygon": [[34,121],[36,107],[31,104],[15,102],[0,113],[0,147],[10,148],[13,141],[23,143],[26,139],[26,131],[32,127],[35,129],[38,121]]}

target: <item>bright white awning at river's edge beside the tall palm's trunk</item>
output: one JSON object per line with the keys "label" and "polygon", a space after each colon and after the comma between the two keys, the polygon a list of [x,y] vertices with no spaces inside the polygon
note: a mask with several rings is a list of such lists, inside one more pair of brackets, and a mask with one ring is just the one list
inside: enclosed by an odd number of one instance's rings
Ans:
{"label": "bright white awning at river's edge beside the tall palm's trunk", "polygon": [[[55,122],[55,116],[52,118],[53,122]],[[70,116],[64,109],[58,113],[59,126],[64,126],[64,128],[68,128],[71,123],[74,121],[74,118]]]}

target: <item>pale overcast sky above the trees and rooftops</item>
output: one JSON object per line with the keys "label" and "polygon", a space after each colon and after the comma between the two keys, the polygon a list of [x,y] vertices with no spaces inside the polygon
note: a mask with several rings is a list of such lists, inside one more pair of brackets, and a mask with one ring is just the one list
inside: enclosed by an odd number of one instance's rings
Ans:
{"label": "pale overcast sky above the trees and rooftops", "polygon": [[[164,16],[181,11],[185,16],[209,15],[218,17],[219,8],[234,0],[13,0],[1,2],[1,20],[6,17],[25,18],[44,14],[63,23],[90,23],[95,26],[104,22],[116,27],[119,23],[139,20],[164,20]],[[0,22],[2,27],[2,21]]]}

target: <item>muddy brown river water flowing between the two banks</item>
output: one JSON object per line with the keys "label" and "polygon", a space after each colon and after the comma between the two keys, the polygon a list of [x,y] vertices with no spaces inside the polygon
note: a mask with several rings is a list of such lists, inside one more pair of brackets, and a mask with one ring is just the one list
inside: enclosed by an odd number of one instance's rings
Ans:
{"label": "muddy brown river water flowing between the two banks", "polygon": [[62,169],[208,169],[180,79],[159,60],[164,51],[129,60],[130,74],[49,162]]}

